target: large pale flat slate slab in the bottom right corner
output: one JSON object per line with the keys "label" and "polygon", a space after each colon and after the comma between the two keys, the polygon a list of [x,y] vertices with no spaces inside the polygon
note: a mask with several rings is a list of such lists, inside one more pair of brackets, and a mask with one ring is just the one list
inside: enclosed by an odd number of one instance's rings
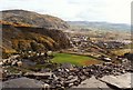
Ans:
{"label": "large pale flat slate slab in the bottom right corner", "polygon": [[133,73],[125,73],[121,76],[104,76],[103,78],[100,78],[100,80],[120,89],[131,89],[132,76]]}

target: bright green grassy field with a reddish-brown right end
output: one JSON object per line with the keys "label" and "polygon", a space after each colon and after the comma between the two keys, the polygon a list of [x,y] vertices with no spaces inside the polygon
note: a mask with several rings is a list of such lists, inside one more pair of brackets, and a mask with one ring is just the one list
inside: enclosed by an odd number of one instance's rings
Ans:
{"label": "bright green grassy field with a reddish-brown right end", "polygon": [[76,56],[76,54],[70,54],[70,53],[54,53],[54,58],[52,59],[52,61],[57,63],[69,62],[76,66],[89,66],[89,64],[96,64],[101,62],[90,57]]}

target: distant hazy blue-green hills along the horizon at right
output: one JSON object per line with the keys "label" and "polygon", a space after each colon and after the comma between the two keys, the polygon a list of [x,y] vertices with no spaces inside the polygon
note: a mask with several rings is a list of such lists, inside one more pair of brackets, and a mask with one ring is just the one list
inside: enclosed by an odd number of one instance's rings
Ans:
{"label": "distant hazy blue-green hills along the horizon at right", "polygon": [[108,31],[131,31],[130,24],[110,22],[68,21],[71,28],[85,28]]}

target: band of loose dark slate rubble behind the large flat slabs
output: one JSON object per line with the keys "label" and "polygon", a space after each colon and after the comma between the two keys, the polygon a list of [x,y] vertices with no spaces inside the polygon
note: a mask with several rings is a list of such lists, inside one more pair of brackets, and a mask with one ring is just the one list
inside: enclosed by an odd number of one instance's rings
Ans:
{"label": "band of loose dark slate rubble behind the large flat slabs", "polygon": [[[129,66],[127,66],[129,64]],[[105,76],[121,76],[127,72],[133,72],[133,69],[129,63],[114,64],[114,63],[103,63],[103,64],[92,64],[88,67],[76,67],[71,68],[58,68],[49,72],[32,72],[21,74],[21,77],[27,77],[29,79],[35,79],[48,84],[50,89],[69,89],[80,86],[83,81],[90,80],[94,77],[100,81],[101,78]],[[18,76],[18,74],[17,74]],[[20,79],[21,77],[13,77]],[[94,79],[94,80],[95,80]],[[12,79],[13,80],[13,79]],[[88,81],[86,81],[88,82]],[[18,84],[19,86],[19,84]]]}

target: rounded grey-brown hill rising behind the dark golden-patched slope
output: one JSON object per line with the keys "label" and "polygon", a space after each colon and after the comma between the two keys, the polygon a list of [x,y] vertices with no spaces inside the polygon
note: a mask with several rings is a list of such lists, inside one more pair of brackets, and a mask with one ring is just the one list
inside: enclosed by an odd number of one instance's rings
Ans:
{"label": "rounded grey-brown hill rising behind the dark golden-patched slope", "polygon": [[62,19],[49,14],[40,14],[27,10],[1,11],[2,20],[16,24],[29,24],[38,28],[68,29],[69,26]]}

